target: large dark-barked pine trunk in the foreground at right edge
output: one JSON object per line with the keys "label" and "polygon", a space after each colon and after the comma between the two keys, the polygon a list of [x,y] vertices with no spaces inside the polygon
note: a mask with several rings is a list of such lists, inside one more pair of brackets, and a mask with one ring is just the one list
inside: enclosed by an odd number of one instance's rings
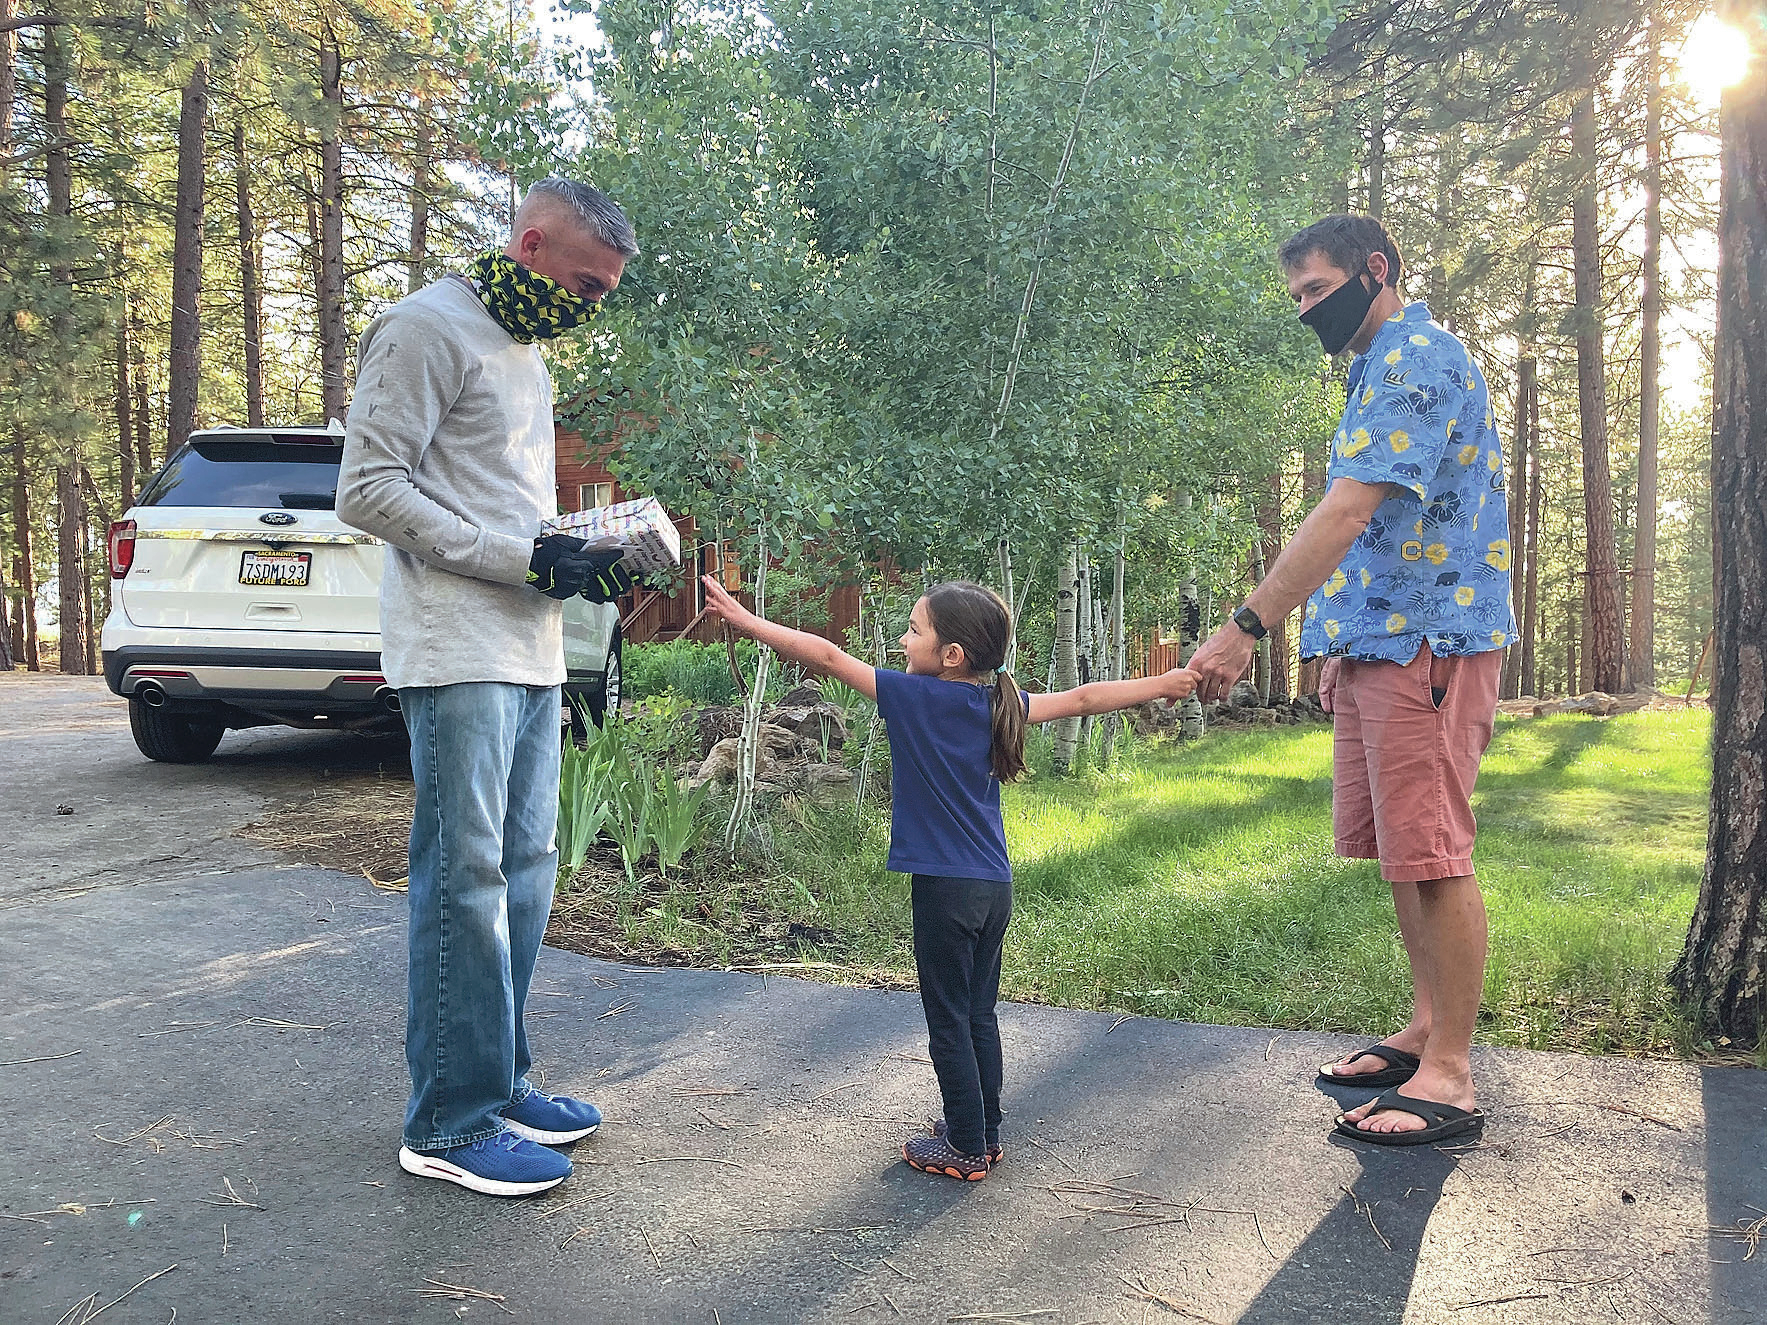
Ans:
{"label": "large dark-barked pine trunk in the foreground at right edge", "polygon": [[[1719,5],[1758,23],[1760,0]],[[1753,11],[1753,14],[1751,14]],[[1767,1030],[1767,83],[1721,104],[1712,382],[1712,818],[1670,982],[1735,1044]]]}

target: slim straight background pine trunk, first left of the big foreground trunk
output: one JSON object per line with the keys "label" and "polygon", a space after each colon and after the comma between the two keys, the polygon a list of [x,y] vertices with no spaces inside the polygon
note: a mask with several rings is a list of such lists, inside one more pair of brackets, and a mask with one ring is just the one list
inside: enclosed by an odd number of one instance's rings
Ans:
{"label": "slim straight background pine trunk, first left of the big foreground trunk", "polygon": [[1645,72],[1645,265],[1638,344],[1638,516],[1627,689],[1656,684],[1657,362],[1663,320],[1663,19],[1650,16]]}

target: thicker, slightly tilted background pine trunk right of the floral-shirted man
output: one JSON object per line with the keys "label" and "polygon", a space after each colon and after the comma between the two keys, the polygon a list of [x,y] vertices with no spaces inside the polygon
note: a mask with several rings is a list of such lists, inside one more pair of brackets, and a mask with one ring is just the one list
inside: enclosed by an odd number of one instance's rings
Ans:
{"label": "thicker, slightly tilted background pine trunk right of the floral-shirted man", "polygon": [[1585,675],[1592,691],[1620,689],[1620,565],[1613,542],[1613,475],[1608,470],[1608,394],[1601,336],[1601,230],[1596,178],[1596,94],[1571,118],[1581,180],[1571,201],[1576,286],[1576,403],[1583,438]]}

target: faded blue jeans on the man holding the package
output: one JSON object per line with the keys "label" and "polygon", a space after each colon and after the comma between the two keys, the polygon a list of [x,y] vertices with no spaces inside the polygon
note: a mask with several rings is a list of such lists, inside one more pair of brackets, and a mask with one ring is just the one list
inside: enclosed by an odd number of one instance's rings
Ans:
{"label": "faded blue jeans on the man holding the package", "polygon": [[405,1145],[504,1131],[534,1090],[521,1009],[558,878],[558,687],[399,691],[412,733]]}

